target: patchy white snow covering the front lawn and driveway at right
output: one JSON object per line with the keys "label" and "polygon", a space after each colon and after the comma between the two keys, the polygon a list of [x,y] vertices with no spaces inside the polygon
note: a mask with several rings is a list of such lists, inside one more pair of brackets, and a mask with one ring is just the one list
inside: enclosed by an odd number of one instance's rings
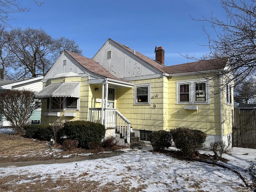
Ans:
{"label": "patchy white snow covering the front lawn and driveway at right", "polygon": [[[238,174],[252,184],[250,169],[256,169],[256,150],[232,148],[223,157],[229,161],[218,162],[228,168],[204,162],[180,160],[164,154],[152,153],[150,146],[123,149],[125,153],[109,158],[84,160],[65,164],[41,164],[25,167],[0,168],[0,178],[10,175],[28,175],[19,182],[40,182],[34,176],[76,178],[77,181],[100,181],[132,187],[146,186],[142,191],[225,191],[250,192]],[[201,153],[210,153],[201,150]],[[29,178],[31,177],[31,180]]]}

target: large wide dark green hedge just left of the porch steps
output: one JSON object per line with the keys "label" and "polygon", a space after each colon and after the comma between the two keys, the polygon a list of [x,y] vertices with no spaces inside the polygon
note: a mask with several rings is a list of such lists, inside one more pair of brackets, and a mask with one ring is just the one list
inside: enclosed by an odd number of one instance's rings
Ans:
{"label": "large wide dark green hedge just left of the porch steps", "polygon": [[91,142],[100,144],[105,136],[105,126],[89,121],[70,121],[63,125],[64,134],[71,140],[78,140],[79,145],[88,148]]}

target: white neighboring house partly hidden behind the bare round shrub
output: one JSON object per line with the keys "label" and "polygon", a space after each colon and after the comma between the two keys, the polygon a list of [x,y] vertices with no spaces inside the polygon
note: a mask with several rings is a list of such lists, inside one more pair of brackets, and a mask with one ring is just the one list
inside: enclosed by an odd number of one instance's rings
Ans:
{"label": "white neighboring house partly hidden behind the bare round shrub", "polygon": [[[18,89],[18,90],[30,90],[35,93],[39,92],[43,88],[42,83],[43,76],[35,78],[26,78],[21,80],[0,80],[0,91],[7,89]],[[40,124],[41,121],[41,108],[33,111],[29,118],[28,124]],[[0,114],[0,126],[10,126],[10,122],[6,120],[2,114]]]}

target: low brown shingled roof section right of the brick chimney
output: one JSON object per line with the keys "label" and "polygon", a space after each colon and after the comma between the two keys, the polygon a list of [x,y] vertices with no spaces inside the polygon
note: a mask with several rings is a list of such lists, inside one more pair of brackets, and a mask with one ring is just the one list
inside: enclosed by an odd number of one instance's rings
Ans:
{"label": "low brown shingled roof section right of the brick chimney", "polygon": [[196,61],[190,63],[184,63],[179,65],[167,66],[162,68],[168,74],[181,74],[189,72],[203,72],[203,71],[212,71],[212,70],[221,70],[224,69],[227,63],[226,58],[221,59],[211,59]]}

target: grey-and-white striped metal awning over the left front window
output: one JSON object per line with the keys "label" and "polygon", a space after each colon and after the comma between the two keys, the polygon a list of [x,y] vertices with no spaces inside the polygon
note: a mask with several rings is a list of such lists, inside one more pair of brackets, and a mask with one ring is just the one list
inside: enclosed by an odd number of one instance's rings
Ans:
{"label": "grey-and-white striped metal awning over the left front window", "polygon": [[80,98],[80,82],[50,84],[36,94],[36,98],[76,97]]}

